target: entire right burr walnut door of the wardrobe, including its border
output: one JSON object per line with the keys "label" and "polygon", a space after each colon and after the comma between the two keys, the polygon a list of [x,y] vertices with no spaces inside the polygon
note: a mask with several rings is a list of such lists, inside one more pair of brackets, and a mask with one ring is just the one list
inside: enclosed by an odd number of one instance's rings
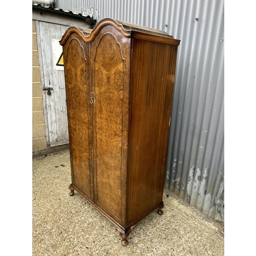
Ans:
{"label": "entire right burr walnut door of the wardrobe, including its border", "polygon": [[126,82],[129,82],[125,67],[129,60],[124,42],[129,40],[115,28],[106,26],[90,43],[92,95],[95,99],[94,200],[118,222],[125,218],[125,197],[122,195],[125,195]]}

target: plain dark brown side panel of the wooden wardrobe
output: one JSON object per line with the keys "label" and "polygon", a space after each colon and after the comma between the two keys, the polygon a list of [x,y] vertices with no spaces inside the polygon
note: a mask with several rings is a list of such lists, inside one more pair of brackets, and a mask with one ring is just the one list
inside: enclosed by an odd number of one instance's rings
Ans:
{"label": "plain dark brown side panel of the wooden wardrobe", "polygon": [[133,39],[127,225],[163,200],[177,46]]}

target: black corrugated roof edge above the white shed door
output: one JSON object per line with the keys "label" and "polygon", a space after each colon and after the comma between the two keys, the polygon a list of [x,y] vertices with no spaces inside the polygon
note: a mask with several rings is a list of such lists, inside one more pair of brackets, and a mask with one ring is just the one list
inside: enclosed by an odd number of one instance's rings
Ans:
{"label": "black corrugated roof edge above the white shed door", "polygon": [[49,14],[83,20],[89,25],[94,25],[96,23],[96,19],[91,18],[89,15],[82,16],[81,13],[76,14],[76,13],[73,13],[72,11],[63,11],[62,9],[53,9],[51,6],[42,7],[39,4],[32,4],[32,10],[40,12],[40,14],[49,13]]}

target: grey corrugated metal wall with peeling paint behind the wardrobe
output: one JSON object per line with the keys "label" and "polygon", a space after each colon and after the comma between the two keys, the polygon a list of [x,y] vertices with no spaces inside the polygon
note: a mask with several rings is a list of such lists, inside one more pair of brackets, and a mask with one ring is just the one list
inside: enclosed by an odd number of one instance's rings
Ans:
{"label": "grey corrugated metal wall with peeling paint behind the wardrobe", "polygon": [[98,21],[112,17],[181,40],[166,186],[224,221],[224,0],[56,0],[55,8],[93,8]]}

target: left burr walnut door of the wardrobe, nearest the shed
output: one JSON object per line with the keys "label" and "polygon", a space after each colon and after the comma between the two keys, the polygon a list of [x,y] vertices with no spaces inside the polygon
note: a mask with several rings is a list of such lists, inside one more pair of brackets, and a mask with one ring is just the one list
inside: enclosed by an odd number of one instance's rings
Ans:
{"label": "left burr walnut door of the wardrobe, nearest the shed", "polygon": [[72,183],[93,201],[89,44],[77,33],[63,46]]}

